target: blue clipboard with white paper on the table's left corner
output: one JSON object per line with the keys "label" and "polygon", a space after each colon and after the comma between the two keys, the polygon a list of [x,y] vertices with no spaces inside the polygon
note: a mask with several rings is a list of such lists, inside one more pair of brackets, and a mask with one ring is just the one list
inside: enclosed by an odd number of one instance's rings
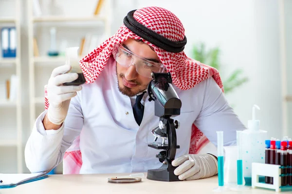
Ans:
{"label": "blue clipboard with white paper on the table's left corner", "polygon": [[48,178],[47,172],[31,174],[0,174],[0,189],[12,188],[18,185]]}

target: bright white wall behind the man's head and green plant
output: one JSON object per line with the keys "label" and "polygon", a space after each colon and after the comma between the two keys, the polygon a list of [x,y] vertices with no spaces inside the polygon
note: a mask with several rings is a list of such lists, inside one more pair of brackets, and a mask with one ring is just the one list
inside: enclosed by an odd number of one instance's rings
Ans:
{"label": "bright white wall behind the man's head and green plant", "polygon": [[[176,14],[185,27],[187,46],[205,42],[219,46],[222,76],[242,68],[249,82],[228,95],[244,124],[252,118],[252,106],[269,137],[281,138],[281,82],[279,17],[275,0],[138,0],[137,7],[162,6]],[[124,15],[127,10],[123,8]],[[118,21],[116,22],[118,23]],[[118,26],[118,25],[116,25]]]}

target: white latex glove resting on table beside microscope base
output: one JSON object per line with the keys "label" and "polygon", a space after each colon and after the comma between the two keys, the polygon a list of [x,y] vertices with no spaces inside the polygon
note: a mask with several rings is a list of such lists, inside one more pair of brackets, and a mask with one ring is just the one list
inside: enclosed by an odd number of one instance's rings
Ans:
{"label": "white latex glove resting on table beside microscope base", "polygon": [[178,166],[174,174],[180,180],[208,178],[218,173],[218,162],[210,154],[187,154],[173,160],[171,164]]}

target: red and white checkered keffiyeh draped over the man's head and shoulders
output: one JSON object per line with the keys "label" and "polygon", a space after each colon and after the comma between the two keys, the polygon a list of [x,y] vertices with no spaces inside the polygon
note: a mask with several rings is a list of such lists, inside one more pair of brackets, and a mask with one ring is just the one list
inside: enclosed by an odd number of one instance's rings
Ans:
{"label": "red and white checkered keffiyeh draped over the man's head and shoulders", "polygon": [[[182,22],[177,16],[164,8],[145,7],[138,9],[134,12],[133,17],[148,29],[163,35],[171,41],[182,41],[184,38]],[[127,40],[128,38],[142,39],[146,44],[153,47],[167,72],[171,73],[173,83],[178,88],[182,90],[190,89],[201,81],[212,76],[223,91],[219,72],[215,68],[201,64],[200,62],[187,57],[184,51],[179,53],[165,51],[164,49],[161,49],[139,37],[134,32],[131,32],[124,24],[113,36],[80,61],[80,66],[86,78],[86,83],[94,82],[99,76],[110,58],[113,46]],[[49,107],[47,98],[45,98],[45,102],[45,107],[47,109]],[[208,142],[209,140],[206,136],[204,136],[203,133],[193,125],[189,153],[198,153]],[[73,150],[67,150],[65,153],[63,161],[64,174],[79,173],[79,169],[82,165],[82,158],[78,145],[79,139],[77,138],[73,142]]]}

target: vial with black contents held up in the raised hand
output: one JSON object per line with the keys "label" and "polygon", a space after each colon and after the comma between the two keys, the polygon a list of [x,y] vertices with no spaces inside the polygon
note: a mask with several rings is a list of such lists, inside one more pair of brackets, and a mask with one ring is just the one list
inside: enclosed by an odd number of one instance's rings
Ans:
{"label": "vial with black contents held up in the raised hand", "polygon": [[66,65],[71,65],[71,70],[68,71],[67,73],[77,73],[78,78],[74,81],[63,83],[63,85],[81,85],[86,82],[82,69],[79,65],[77,52],[78,49],[79,47],[67,48],[65,53]]}

